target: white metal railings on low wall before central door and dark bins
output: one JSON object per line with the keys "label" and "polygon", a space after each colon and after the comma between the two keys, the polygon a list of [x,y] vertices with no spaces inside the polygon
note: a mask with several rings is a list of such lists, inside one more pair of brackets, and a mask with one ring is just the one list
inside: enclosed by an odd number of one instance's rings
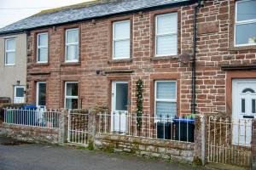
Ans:
{"label": "white metal railings on low wall before central door and dark bins", "polygon": [[98,129],[99,133],[194,142],[195,120],[172,116],[137,116],[120,111],[112,114],[103,112],[99,114]]}

